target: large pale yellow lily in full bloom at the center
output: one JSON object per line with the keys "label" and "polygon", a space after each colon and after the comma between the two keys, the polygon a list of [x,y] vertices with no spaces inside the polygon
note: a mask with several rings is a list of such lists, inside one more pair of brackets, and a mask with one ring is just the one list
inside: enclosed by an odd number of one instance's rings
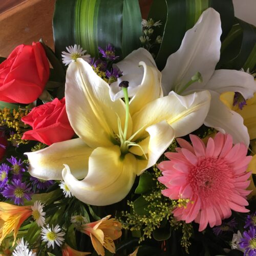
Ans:
{"label": "large pale yellow lily in full bloom at the center", "polygon": [[79,138],[26,153],[32,176],[65,180],[84,203],[113,204],[129,193],[136,175],[153,166],[175,136],[202,125],[209,110],[208,91],[163,97],[161,73],[144,62],[139,65],[144,69],[141,84],[130,101],[123,88],[124,102],[111,100],[109,84],[86,61],[71,63],[66,109]]}

